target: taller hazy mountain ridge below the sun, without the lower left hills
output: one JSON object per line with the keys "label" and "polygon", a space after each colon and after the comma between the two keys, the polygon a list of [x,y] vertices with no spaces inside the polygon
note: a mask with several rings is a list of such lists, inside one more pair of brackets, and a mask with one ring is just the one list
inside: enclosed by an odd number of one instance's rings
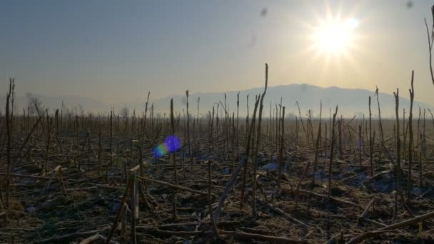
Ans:
{"label": "taller hazy mountain ridge below the sun, without the lower left hills", "polygon": [[[255,96],[261,94],[263,88],[251,88],[248,90],[240,91],[240,108],[239,113],[241,116],[246,115],[246,96],[249,95],[249,111],[253,112],[254,99]],[[229,111],[236,112],[236,95],[238,91],[228,91],[226,92],[226,103],[229,103]],[[306,83],[303,84],[291,84],[286,86],[273,86],[269,87],[266,93],[266,98],[264,99],[264,114],[263,116],[268,117],[270,114],[270,104],[272,108],[276,108],[276,103],[280,103],[282,98],[283,106],[286,106],[286,113],[295,113],[298,115],[298,108],[296,106],[296,101],[298,101],[302,116],[308,113],[308,109],[311,109],[313,116],[319,116],[320,113],[320,103],[323,103],[323,116],[328,116],[329,108],[334,108],[338,105],[338,114],[352,117],[354,115],[363,116],[368,115],[368,98],[371,96],[371,109],[373,117],[378,114],[378,105],[375,97],[375,91],[368,91],[365,89],[349,89],[349,88],[338,88],[335,86],[329,88],[321,88],[319,86],[312,86]],[[200,113],[208,113],[208,110],[212,110],[212,106],[217,108],[215,103],[224,103],[224,93],[193,93],[188,99],[190,113],[196,115],[197,113],[197,101],[198,97],[201,98],[200,102]],[[390,118],[395,116],[395,98],[393,93],[379,93],[380,98],[380,108],[382,111],[383,118]],[[162,98],[153,101],[156,110],[168,112],[169,104],[171,98]],[[178,111],[182,111],[185,108],[186,97],[183,96],[173,96],[174,108]],[[418,103],[415,101],[413,104],[413,113],[416,114],[416,109],[418,106],[423,108],[430,108],[432,106],[426,103]],[[221,108],[221,104],[220,104]],[[405,98],[400,98],[400,114],[402,113],[402,108],[407,111],[410,108],[410,100]],[[220,114],[223,110],[220,110]],[[415,117],[415,116],[413,116]]]}

